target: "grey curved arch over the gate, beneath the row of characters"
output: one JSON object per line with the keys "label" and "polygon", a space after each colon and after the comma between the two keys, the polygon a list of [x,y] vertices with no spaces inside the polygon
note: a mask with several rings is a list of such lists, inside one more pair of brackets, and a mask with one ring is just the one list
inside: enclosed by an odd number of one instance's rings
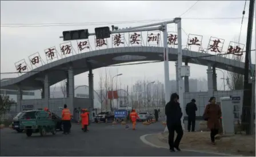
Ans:
{"label": "grey curved arch over the gate, beneath the row of characters", "polygon": [[[69,69],[70,65],[73,68],[74,75],[79,75],[80,73],[89,71],[89,69],[97,69],[114,64],[133,61],[161,61],[163,59],[163,49],[163,47],[118,47],[80,53],[42,65],[22,76],[1,80],[1,88],[17,90],[17,85],[20,85],[22,90],[41,89],[42,80],[46,74],[48,75],[49,84],[54,85],[66,79],[66,71]],[[168,52],[169,61],[178,59],[177,48],[169,48]],[[134,56],[133,59],[130,59],[130,56]],[[116,59],[117,57],[119,57],[119,59]],[[197,61],[193,60],[193,58],[197,58]],[[205,66],[210,63],[216,68],[239,74],[243,74],[245,65],[245,63],[241,61],[227,59],[222,56],[209,56],[209,54],[206,53],[183,49],[182,61],[185,62],[185,59],[189,59],[189,63]],[[252,67],[254,68],[255,65]]]}

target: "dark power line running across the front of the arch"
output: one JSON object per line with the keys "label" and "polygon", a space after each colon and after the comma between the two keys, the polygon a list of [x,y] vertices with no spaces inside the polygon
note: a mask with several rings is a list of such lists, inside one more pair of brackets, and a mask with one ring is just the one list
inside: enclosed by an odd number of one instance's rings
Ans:
{"label": "dark power line running across the front of the arch", "polygon": [[[255,49],[251,49],[251,51],[255,51]],[[242,53],[244,53],[245,51],[241,51]],[[187,57],[187,59],[198,59],[198,58],[204,58],[204,57],[211,57],[211,56],[221,56],[221,55],[230,55],[230,53],[222,53],[222,54],[218,54],[218,55],[206,55],[206,56],[197,56],[197,57]],[[109,65],[106,67],[118,67],[118,66],[124,66],[124,65],[137,65],[137,64],[148,64],[148,63],[159,63],[163,60],[158,60],[158,61],[147,61],[147,62],[143,62],[143,63],[128,63],[128,64],[119,64],[119,65]],[[177,61],[177,59],[172,59],[169,61]],[[74,68],[75,70],[79,70],[79,69],[84,69],[84,67],[82,68]],[[68,69],[49,69],[47,70],[49,71],[67,71]],[[36,72],[42,72],[42,71],[29,71],[29,72],[1,72],[0,74],[13,74],[13,73],[36,73]]]}

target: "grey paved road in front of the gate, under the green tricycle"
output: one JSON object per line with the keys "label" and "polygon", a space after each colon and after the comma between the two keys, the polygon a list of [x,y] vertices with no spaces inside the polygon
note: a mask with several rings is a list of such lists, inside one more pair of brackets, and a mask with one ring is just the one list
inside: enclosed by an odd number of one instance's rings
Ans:
{"label": "grey paved road in front of the gate, under the green tricycle", "polygon": [[197,152],[169,152],[143,143],[144,134],[163,131],[160,122],[137,130],[125,130],[125,126],[111,123],[93,123],[89,133],[83,133],[80,125],[73,124],[70,135],[26,137],[10,129],[1,130],[1,156],[216,156]]}

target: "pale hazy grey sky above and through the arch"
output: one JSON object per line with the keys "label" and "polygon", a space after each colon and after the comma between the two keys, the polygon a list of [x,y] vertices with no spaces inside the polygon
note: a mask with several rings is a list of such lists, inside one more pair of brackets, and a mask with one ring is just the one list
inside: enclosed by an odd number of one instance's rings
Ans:
{"label": "pale hazy grey sky above and through the arch", "polygon": [[[157,19],[172,19],[189,9],[196,1],[1,1],[1,73],[15,72],[14,63],[39,52],[46,61],[44,49],[63,43],[59,36],[64,30],[88,28],[94,32],[95,27],[109,26],[111,23],[119,27],[139,26],[153,23]],[[207,48],[211,36],[225,39],[223,51],[229,42],[237,41],[241,27],[242,11],[245,1],[199,1],[182,19],[182,45],[187,43],[186,34],[202,35],[203,48]],[[240,43],[246,43],[246,28],[249,2],[246,4],[245,19]],[[191,19],[194,18],[194,19]],[[204,18],[204,19],[196,19]],[[208,18],[208,19],[207,19]],[[234,18],[234,19],[209,19]],[[238,19],[235,19],[238,18]],[[143,22],[138,22],[142,21]],[[151,21],[150,21],[151,20]],[[126,22],[124,22],[126,21]],[[130,21],[130,22],[127,22]],[[3,27],[16,23],[18,27]],[[20,27],[27,24],[34,27]],[[31,25],[33,23],[83,23],[79,26],[47,26],[49,24]],[[71,26],[70,26],[71,25]],[[8,25],[10,26],[10,25]],[[14,25],[12,25],[14,26]],[[45,27],[42,27],[45,26]],[[254,27],[255,28],[255,25]],[[175,31],[175,24],[169,24],[168,31]],[[255,29],[253,30],[255,31]],[[90,39],[93,43],[93,38]],[[255,32],[251,49],[255,49]],[[74,43],[75,47],[75,43]],[[255,51],[252,53],[255,64]],[[206,67],[190,64],[191,78],[206,78]],[[112,75],[123,73],[119,81],[130,85],[136,80],[144,79],[163,82],[163,63],[128,65],[109,68]],[[175,79],[174,62],[169,63],[170,79]],[[98,88],[99,73],[104,68],[94,70],[94,88]],[[217,71],[218,89],[223,89],[222,72]],[[17,77],[17,74],[2,74],[5,77]],[[226,77],[226,74],[225,74]],[[75,76],[75,84],[88,84],[87,73]],[[119,83],[118,83],[119,84]]]}

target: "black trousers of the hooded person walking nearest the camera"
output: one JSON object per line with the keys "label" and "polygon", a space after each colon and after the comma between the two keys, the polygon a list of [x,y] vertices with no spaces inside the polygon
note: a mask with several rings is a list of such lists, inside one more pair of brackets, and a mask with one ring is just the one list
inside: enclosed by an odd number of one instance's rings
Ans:
{"label": "black trousers of the hooded person walking nearest the camera", "polygon": [[[179,143],[183,137],[183,130],[181,124],[167,124],[169,130],[169,146],[170,148],[179,147]],[[174,141],[174,131],[177,133],[177,137]]]}

